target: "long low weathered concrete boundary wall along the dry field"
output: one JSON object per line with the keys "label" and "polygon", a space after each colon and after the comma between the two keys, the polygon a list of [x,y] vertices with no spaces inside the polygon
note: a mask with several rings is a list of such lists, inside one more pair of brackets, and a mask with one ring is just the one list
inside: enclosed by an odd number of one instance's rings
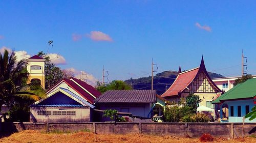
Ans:
{"label": "long low weathered concrete boundary wall along the dry field", "polygon": [[2,123],[2,132],[23,130],[43,132],[90,131],[97,134],[150,134],[200,137],[209,133],[214,137],[237,138],[256,135],[256,123]]}

